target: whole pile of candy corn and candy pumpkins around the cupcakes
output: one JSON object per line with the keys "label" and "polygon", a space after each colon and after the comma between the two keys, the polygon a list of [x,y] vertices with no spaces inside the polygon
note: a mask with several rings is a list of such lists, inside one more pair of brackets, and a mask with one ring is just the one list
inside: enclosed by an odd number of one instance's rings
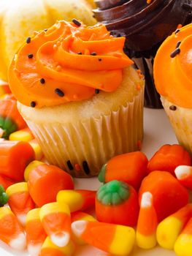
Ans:
{"label": "whole pile of candy corn and candy pumpkins around the cupcakes", "polygon": [[150,161],[139,151],[113,157],[97,192],[74,189],[68,173],[39,161],[41,148],[12,95],[0,102],[1,241],[41,256],[70,256],[82,244],[126,256],[135,243],[191,255],[192,167],[182,146],[164,145]]}

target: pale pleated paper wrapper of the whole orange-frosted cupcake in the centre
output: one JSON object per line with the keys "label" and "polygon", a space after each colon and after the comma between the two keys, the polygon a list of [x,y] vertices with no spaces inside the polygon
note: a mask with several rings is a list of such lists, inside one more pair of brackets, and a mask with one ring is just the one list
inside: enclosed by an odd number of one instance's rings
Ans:
{"label": "pale pleated paper wrapper of the whole orange-frosted cupcake in the centre", "polygon": [[26,120],[48,162],[76,177],[96,176],[111,157],[138,150],[143,136],[143,89],[119,110],[74,124]]}

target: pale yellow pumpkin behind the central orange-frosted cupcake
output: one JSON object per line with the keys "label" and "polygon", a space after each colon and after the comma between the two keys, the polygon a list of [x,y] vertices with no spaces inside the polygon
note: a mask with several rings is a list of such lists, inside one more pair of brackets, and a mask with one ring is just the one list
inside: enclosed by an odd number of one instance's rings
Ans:
{"label": "pale yellow pumpkin behind the central orange-frosted cupcake", "polygon": [[0,78],[7,80],[7,67],[20,45],[34,31],[52,26],[56,20],[82,20],[96,23],[91,5],[85,0],[1,0],[0,1]]}

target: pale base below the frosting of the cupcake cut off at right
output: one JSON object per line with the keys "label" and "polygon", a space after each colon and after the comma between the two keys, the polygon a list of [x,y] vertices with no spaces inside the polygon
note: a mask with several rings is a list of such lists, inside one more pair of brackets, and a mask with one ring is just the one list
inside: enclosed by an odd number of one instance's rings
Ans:
{"label": "pale base below the frosting of the cupcake cut off at right", "polygon": [[[161,102],[172,124],[178,142],[192,154],[192,110],[174,105],[165,97],[161,97]],[[169,107],[172,105],[177,109],[171,110]]]}

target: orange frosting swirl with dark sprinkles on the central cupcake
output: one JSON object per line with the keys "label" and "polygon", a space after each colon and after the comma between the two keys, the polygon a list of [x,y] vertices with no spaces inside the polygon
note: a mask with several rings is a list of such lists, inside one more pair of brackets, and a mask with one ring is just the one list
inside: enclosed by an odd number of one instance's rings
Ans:
{"label": "orange frosting swirl with dark sprinkles on the central cupcake", "polygon": [[37,108],[115,91],[123,68],[133,63],[123,53],[124,42],[104,25],[58,21],[18,50],[9,67],[9,86],[19,102]]}

